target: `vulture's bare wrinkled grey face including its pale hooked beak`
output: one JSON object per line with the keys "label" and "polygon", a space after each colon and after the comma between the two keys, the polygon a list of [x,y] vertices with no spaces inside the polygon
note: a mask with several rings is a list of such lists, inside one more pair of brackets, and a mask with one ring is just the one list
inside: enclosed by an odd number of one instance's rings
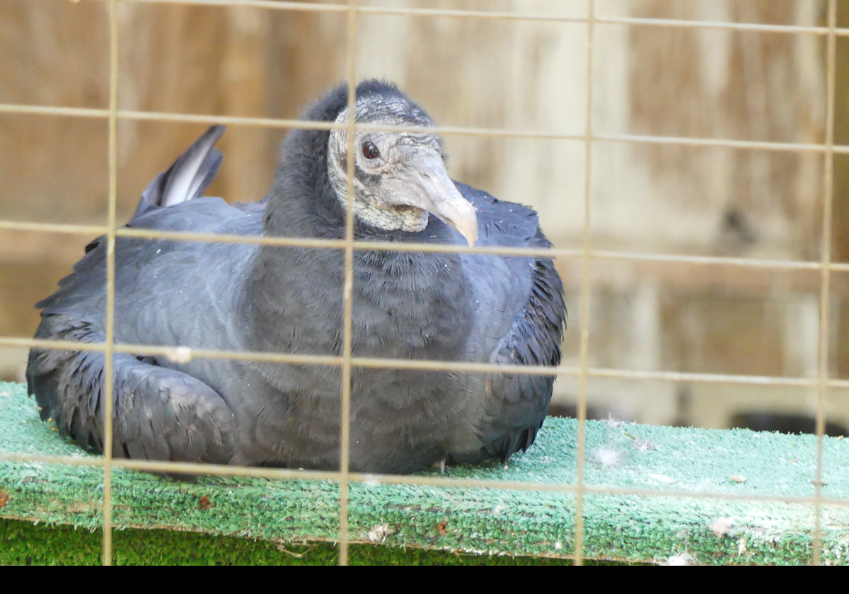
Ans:
{"label": "vulture's bare wrinkled grey face including its pale hooked beak", "polygon": [[[348,109],[336,118],[348,124]],[[402,98],[359,98],[356,120],[389,126],[433,126],[420,109]],[[347,207],[347,130],[331,130],[328,173],[336,196]],[[354,132],[354,216],[385,231],[418,233],[428,213],[462,233],[469,245],[477,239],[475,207],[459,193],[445,167],[440,138],[426,132]]]}

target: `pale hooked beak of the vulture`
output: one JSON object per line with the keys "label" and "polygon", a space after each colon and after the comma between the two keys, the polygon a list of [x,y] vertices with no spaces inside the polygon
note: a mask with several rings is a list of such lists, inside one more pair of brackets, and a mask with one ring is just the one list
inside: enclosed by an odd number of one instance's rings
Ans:
{"label": "pale hooked beak of the vulture", "polygon": [[477,241],[475,207],[448,177],[439,154],[417,155],[400,173],[404,183],[402,202],[427,210],[466,238],[469,245]]}

